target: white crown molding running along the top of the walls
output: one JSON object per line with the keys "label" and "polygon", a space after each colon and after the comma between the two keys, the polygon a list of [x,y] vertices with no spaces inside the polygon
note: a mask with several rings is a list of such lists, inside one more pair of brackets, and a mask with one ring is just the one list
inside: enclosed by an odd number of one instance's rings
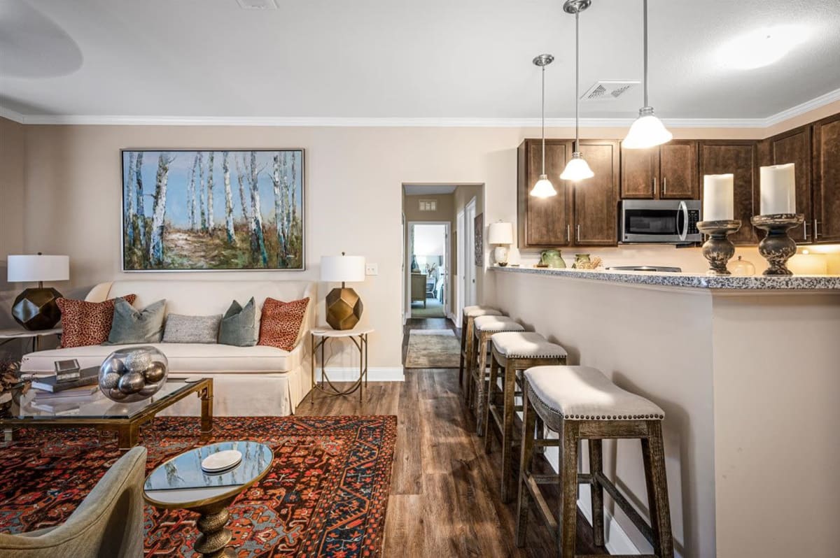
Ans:
{"label": "white crown molding running along the top of the walls", "polygon": [[[663,118],[670,128],[768,128],[840,100],[829,91],[765,118]],[[403,118],[403,117],[175,117],[119,115],[21,114],[0,107],[0,117],[22,124],[95,126],[261,126],[299,128],[538,128],[538,118]],[[582,118],[581,128],[628,128],[634,117]],[[547,128],[572,128],[574,118],[548,118]]]}

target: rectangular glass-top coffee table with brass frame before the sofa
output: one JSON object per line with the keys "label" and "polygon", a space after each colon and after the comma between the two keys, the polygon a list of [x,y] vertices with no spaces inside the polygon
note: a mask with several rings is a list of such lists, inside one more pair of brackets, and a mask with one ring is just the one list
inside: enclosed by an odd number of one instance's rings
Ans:
{"label": "rectangular glass-top coffee table with brass frame before the sofa", "polygon": [[[32,393],[32,390],[29,392]],[[20,404],[9,409],[10,417],[0,418],[6,441],[12,441],[14,429],[27,428],[81,428],[91,426],[100,431],[115,431],[119,449],[128,451],[137,445],[140,426],[150,422],[161,410],[197,394],[202,400],[202,434],[213,430],[213,378],[199,378],[187,382],[170,379],[149,399],[135,403],[116,403],[107,397],[71,404],[60,411],[38,409],[29,394]]]}

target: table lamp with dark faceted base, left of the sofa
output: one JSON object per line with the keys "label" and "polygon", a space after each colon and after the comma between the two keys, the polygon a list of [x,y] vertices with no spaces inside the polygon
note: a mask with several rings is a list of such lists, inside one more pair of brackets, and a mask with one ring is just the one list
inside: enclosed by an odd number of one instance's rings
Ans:
{"label": "table lamp with dark faceted base, left of the sofa", "polygon": [[70,258],[67,256],[15,255],[8,257],[8,282],[38,282],[38,288],[25,289],[12,305],[15,321],[29,331],[49,330],[61,319],[55,300],[61,293],[44,287],[44,281],[70,279]]}

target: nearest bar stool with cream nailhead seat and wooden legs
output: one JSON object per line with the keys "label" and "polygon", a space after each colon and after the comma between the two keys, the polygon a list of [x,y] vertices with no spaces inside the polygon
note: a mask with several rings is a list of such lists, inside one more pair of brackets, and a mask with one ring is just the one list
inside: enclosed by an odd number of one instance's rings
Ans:
{"label": "nearest bar stool with cream nailhead seat and wooden legs", "polygon": [[[522,406],[522,460],[519,469],[517,504],[517,546],[525,545],[528,504],[533,498],[540,515],[557,536],[557,552],[564,558],[575,555],[577,487],[590,484],[592,494],[592,529],[596,545],[604,544],[604,491],[654,547],[648,558],[672,558],[665,478],[662,420],[658,405],[631,394],[612,383],[596,368],[585,366],[541,366],[524,373]],[[559,440],[535,440],[535,419],[539,416],[549,429],[559,433]],[[601,469],[601,440],[638,438],[642,441],[644,476],[648,486],[651,525],[645,522],[627,498],[618,491]],[[578,473],[578,442],[589,441],[590,472]],[[536,475],[531,470],[534,446],[559,446],[559,476]],[[554,519],[539,485],[558,482],[560,503]]]}

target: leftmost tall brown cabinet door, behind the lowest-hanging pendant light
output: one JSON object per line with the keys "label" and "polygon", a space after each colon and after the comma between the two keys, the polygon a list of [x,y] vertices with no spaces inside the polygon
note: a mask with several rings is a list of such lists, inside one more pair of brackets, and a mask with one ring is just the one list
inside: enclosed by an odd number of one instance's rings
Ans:
{"label": "leftmost tall brown cabinet door, behind the lowest-hanging pendant light", "polygon": [[[557,196],[538,198],[529,196],[542,170],[542,144],[540,140],[527,139],[519,152],[518,214],[519,248],[567,246],[571,223],[569,189],[560,180],[560,173],[571,154],[571,143],[550,140],[545,143],[545,172],[557,190]],[[523,172],[524,171],[524,172]]]}

